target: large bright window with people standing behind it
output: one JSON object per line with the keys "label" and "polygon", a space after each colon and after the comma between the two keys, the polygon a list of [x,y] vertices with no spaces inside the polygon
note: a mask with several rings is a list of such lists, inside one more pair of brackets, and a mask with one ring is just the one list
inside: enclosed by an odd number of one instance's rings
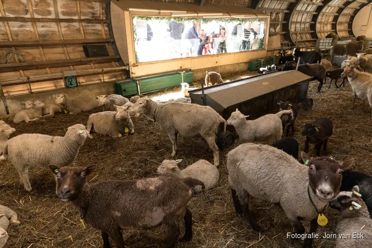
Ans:
{"label": "large bright window with people standing behind it", "polygon": [[136,62],[264,49],[264,19],[133,16]]}

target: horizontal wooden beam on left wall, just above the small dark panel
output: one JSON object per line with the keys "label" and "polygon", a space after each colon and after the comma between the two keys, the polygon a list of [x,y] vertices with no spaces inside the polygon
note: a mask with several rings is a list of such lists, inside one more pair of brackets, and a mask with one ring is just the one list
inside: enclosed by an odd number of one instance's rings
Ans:
{"label": "horizontal wooden beam on left wall, just above the small dark panel", "polygon": [[8,47],[55,47],[65,45],[114,43],[114,39],[83,39],[83,40],[41,40],[41,41],[2,41],[0,48]]}

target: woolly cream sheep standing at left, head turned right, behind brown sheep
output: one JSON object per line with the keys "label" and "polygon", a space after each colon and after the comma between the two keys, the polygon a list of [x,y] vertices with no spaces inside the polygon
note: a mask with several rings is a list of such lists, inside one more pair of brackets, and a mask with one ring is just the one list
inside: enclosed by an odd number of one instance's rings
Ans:
{"label": "woolly cream sheep standing at left, head turned right, behind brown sheep", "polygon": [[28,179],[30,167],[73,165],[87,136],[89,132],[83,124],[69,126],[63,137],[40,133],[20,134],[6,142],[0,161],[8,159],[18,171],[24,188],[31,191]]}

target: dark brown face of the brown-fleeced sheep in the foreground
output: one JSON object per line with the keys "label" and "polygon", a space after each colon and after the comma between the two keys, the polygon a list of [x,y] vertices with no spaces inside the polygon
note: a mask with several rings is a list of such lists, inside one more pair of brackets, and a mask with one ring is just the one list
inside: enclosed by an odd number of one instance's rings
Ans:
{"label": "dark brown face of the brown-fleeced sheep in the foreground", "polygon": [[56,194],[63,202],[76,200],[86,182],[86,176],[94,171],[93,166],[58,168],[50,165],[49,169],[56,178]]}

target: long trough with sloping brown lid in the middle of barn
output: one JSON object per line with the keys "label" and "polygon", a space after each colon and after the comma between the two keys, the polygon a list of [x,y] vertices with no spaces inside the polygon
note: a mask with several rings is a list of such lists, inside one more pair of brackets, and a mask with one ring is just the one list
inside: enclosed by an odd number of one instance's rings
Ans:
{"label": "long trough with sloping brown lid in the middle of barn", "polygon": [[189,91],[191,103],[207,105],[225,120],[238,108],[249,119],[276,113],[278,101],[308,102],[312,77],[297,70],[271,72]]}

